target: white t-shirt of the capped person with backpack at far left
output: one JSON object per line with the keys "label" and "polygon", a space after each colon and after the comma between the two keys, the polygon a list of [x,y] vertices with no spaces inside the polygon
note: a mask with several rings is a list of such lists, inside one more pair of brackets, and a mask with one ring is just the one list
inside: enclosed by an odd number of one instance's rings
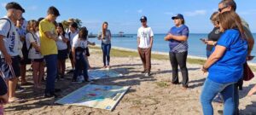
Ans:
{"label": "white t-shirt of the capped person with backpack at far left", "polygon": [[[9,20],[8,17],[4,17],[4,18]],[[11,56],[17,56],[19,55],[18,48],[19,48],[20,36],[18,32],[16,32],[15,24],[11,20],[10,20],[11,23],[9,23],[8,20],[0,20],[0,35],[4,36],[3,43],[5,46],[5,49],[7,50],[7,53]],[[9,32],[9,37],[7,37],[8,32]],[[2,52],[0,52],[0,55],[3,58]]]}

